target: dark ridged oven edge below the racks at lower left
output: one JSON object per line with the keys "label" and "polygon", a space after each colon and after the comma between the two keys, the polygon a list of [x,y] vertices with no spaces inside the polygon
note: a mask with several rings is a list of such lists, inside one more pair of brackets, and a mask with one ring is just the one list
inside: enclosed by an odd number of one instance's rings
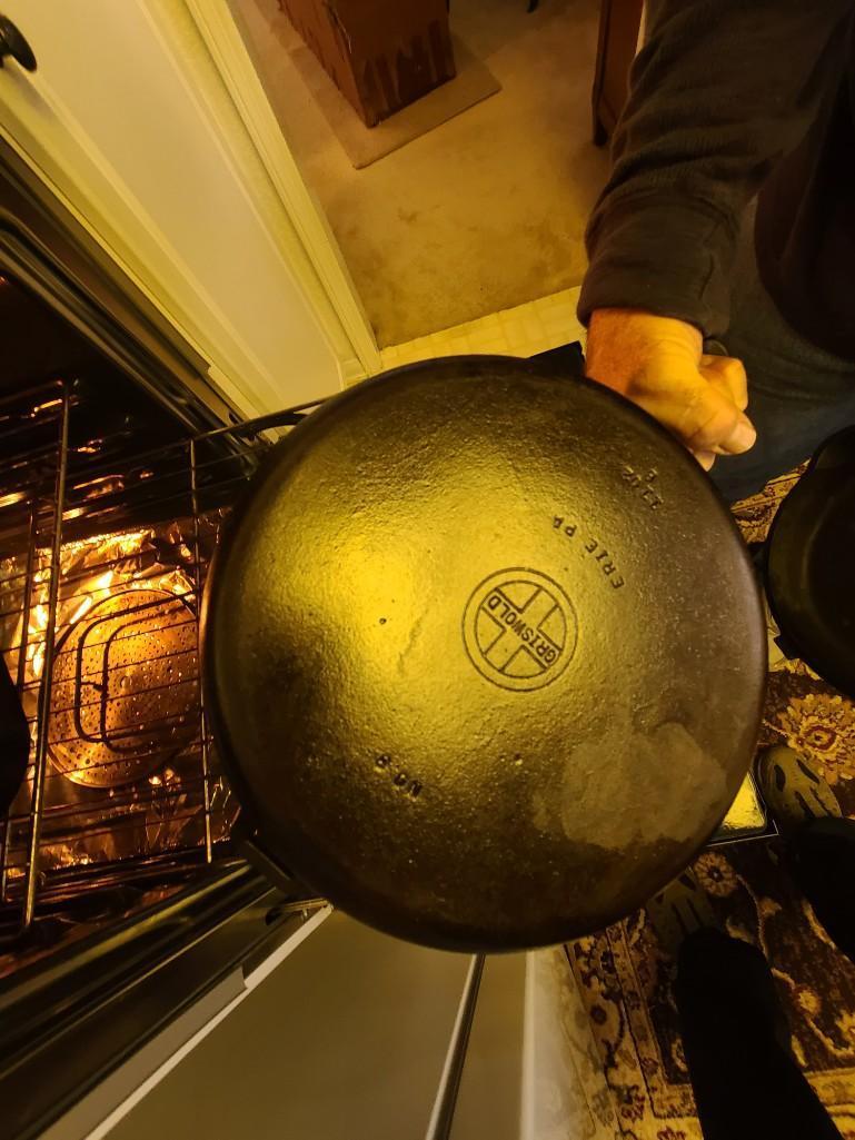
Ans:
{"label": "dark ridged oven edge below the racks at lower left", "polygon": [[[52,969],[0,988],[0,1140],[41,1137],[79,1104],[93,1126],[92,1114],[103,1118],[129,1096],[139,1066],[101,1088],[87,1109],[93,1090],[198,1007],[184,1023],[185,1040],[193,1036],[218,1011],[211,994],[225,1008],[243,992],[252,963],[275,955],[323,907],[288,899],[246,865],[231,865],[109,938],[75,947]],[[169,1056],[164,1042],[182,1043],[164,1039],[158,1064]]]}

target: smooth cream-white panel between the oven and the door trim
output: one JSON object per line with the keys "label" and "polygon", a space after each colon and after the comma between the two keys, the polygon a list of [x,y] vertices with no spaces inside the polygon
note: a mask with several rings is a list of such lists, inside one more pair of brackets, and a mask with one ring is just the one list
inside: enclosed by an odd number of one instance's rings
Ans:
{"label": "smooth cream-white panel between the oven and the door trim", "polygon": [[0,130],[225,394],[254,414],[337,390],[352,347],[184,3],[7,0],[3,11],[39,70],[0,72]]}

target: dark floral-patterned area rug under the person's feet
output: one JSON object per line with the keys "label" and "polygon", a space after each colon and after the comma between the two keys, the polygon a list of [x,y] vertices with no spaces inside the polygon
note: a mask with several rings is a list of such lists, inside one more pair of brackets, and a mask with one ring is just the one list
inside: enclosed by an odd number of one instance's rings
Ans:
{"label": "dark floral-patterned area rug under the person's feet", "polygon": [[[747,540],[765,538],[797,478],[739,505]],[[763,742],[803,751],[855,817],[855,706],[798,660],[773,661],[768,681]],[[779,863],[777,842],[757,840],[707,852],[694,869],[728,934],[759,946],[772,964],[796,1056],[842,1135],[855,1140],[855,966]],[[670,962],[644,913],[565,948],[614,1099],[616,1137],[701,1140]]]}

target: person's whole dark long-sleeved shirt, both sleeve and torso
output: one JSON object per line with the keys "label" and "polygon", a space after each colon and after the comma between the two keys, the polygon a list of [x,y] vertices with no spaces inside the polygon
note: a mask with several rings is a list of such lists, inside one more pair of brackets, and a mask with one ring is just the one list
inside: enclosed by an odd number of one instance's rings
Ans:
{"label": "person's whole dark long-sleeved shirt, both sleeve and torso", "polygon": [[[788,323],[855,360],[855,2],[660,0],[579,301],[725,336],[740,221]],[[726,336],[725,336],[726,340]]]}

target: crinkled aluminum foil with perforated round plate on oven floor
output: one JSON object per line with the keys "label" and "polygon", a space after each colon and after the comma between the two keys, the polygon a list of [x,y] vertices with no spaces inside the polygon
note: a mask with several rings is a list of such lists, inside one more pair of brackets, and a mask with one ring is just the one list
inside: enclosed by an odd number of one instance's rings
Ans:
{"label": "crinkled aluminum foil with perforated round plate on oven floor", "polygon": [[[62,547],[40,873],[162,856],[227,838],[237,804],[209,760],[205,824],[197,572],[220,519],[179,520]],[[24,661],[33,724],[44,670],[50,553],[0,560],[0,648]],[[22,654],[22,641],[25,644]],[[34,750],[33,750],[34,751]],[[9,823],[7,889],[26,865],[32,766]]]}

